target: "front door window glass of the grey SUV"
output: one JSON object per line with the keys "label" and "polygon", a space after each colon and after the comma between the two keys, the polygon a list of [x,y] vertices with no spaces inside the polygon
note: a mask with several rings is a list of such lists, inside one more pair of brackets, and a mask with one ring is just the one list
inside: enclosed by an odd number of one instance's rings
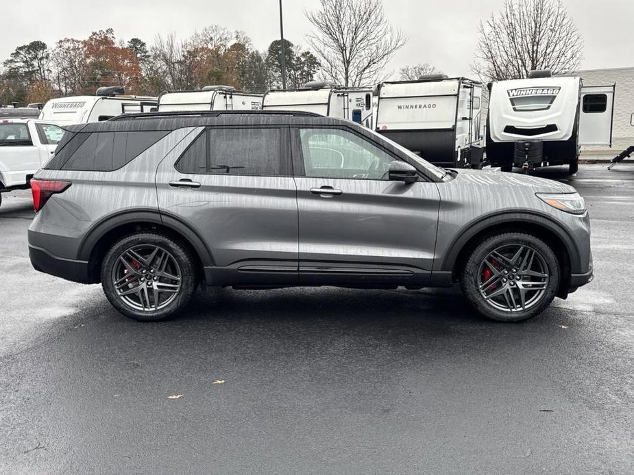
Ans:
{"label": "front door window glass of the grey SUV", "polygon": [[394,157],[341,129],[301,129],[306,177],[387,180]]}

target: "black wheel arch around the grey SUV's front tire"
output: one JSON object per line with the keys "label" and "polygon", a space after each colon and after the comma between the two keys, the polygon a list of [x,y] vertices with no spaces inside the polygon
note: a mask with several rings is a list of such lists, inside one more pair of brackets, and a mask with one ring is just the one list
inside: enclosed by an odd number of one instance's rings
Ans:
{"label": "black wheel arch around the grey SUV's front tire", "polygon": [[552,248],[561,269],[558,296],[565,297],[570,287],[572,269],[581,266],[578,248],[568,231],[561,227],[561,224],[537,213],[507,213],[489,216],[484,220],[467,224],[465,229],[456,233],[458,237],[452,242],[446,257],[443,259],[442,270],[450,271],[452,281],[456,281],[468,256],[479,242],[490,235],[507,232],[535,235]]}

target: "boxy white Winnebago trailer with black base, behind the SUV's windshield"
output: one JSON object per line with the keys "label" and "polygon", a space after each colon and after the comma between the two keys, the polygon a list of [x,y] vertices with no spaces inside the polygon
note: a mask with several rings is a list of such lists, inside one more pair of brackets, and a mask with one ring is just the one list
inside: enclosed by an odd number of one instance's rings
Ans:
{"label": "boxy white Winnebago trailer with black base, behind the SUV's windshield", "polygon": [[482,84],[464,77],[422,76],[378,85],[376,131],[428,162],[481,168]]}

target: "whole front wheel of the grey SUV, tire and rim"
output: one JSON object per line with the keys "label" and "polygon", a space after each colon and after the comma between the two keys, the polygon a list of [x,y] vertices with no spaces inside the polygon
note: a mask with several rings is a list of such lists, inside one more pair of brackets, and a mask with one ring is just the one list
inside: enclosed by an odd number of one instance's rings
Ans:
{"label": "whole front wheel of the grey SUV, tire and rim", "polygon": [[519,322],[538,315],[557,294],[559,262],[544,241],[525,233],[486,238],[467,259],[463,294],[483,316]]}

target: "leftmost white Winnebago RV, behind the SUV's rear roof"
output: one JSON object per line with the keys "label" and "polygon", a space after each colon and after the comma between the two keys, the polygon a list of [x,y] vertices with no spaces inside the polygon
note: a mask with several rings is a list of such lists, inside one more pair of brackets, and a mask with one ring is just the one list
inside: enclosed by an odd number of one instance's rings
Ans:
{"label": "leftmost white Winnebago RV, behind the SUV's rear roof", "polygon": [[40,120],[62,125],[100,122],[121,114],[152,112],[156,97],[128,96],[123,88],[112,86],[97,89],[95,96],[60,97],[45,103]]}

